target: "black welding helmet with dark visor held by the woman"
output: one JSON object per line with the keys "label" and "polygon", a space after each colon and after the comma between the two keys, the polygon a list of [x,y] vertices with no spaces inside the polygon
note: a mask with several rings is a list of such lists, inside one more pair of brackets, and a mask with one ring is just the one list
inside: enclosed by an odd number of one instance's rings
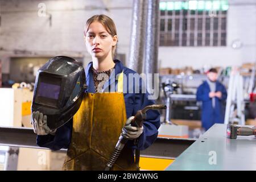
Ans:
{"label": "black welding helmet with dark visor held by the woman", "polygon": [[47,115],[47,125],[57,129],[79,109],[86,89],[85,71],[67,56],[56,56],[36,74],[31,110]]}

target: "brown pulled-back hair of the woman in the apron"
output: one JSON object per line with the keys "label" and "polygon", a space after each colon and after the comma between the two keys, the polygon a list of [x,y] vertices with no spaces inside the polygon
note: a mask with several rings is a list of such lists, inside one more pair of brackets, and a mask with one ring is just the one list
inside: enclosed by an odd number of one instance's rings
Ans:
{"label": "brown pulled-back hair of the woman in the apron", "polygon": [[[117,28],[115,27],[115,23],[114,23],[113,19],[109,18],[109,16],[107,16],[107,15],[101,14],[101,15],[94,15],[86,21],[85,28],[84,28],[84,36],[86,35],[90,24],[95,21],[100,22],[106,28],[106,31],[108,31],[108,33],[112,37],[117,35]],[[116,47],[117,47],[117,45],[112,47],[112,57],[113,58],[115,55]]]}

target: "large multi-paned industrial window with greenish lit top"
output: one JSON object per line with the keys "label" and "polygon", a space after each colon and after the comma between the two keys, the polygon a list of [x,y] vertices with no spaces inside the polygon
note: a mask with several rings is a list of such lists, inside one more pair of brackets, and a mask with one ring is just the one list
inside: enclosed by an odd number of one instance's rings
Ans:
{"label": "large multi-paned industrial window with greenish lit top", "polygon": [[226,46],[228,0],[161,1],[160,46]]}

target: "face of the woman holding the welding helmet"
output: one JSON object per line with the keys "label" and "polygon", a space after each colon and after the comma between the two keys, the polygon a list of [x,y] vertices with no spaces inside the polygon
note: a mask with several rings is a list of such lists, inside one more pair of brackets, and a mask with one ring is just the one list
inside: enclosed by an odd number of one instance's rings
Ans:
{"label": "face of the woman holding the welding helmet", "polygon": [[112,47],[117,44],[117,35],[111,36],[100,22],[89,25],[85,35],[86,49],[92,57],[106,57],[112,55]]}

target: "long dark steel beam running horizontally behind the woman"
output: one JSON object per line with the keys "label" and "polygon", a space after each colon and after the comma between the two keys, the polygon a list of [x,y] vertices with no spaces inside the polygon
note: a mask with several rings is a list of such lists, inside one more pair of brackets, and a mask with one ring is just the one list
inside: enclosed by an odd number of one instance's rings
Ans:
{"label": "long dark steel beam running horizontally behind the woman", "polygon": [[[157,138],[146,150],[143,156],[160,158],[176,158],[185,151],[195,139]],[[36,144],[36,134],[33,129],[26,127],[0,127],[0,145],[11,147],[42,148]],[[66,149],[61,149],[66,152]]]}

